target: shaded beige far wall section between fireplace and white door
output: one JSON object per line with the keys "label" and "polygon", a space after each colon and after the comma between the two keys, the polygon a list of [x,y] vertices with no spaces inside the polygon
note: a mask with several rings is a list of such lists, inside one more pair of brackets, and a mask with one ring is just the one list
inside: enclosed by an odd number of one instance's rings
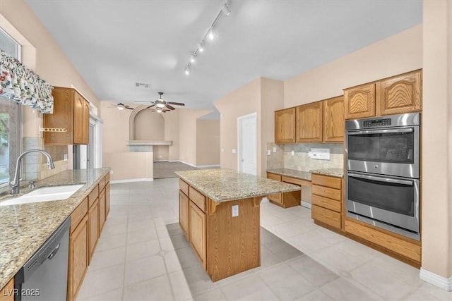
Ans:
{"label": "shaded beige far wall section between fireplace and white door", "polygon": [[220,164],[220,121],[196,121],[196,166]]}

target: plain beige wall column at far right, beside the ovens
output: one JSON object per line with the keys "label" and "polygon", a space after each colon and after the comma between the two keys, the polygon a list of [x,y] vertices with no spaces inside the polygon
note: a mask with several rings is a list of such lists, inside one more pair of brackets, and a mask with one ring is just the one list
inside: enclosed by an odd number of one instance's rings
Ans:
{"label": "plain beige wall column at far right, beside the ovens", "polygon": [[452,3],[424,1],[423,10],[422,269],[451,285]]}

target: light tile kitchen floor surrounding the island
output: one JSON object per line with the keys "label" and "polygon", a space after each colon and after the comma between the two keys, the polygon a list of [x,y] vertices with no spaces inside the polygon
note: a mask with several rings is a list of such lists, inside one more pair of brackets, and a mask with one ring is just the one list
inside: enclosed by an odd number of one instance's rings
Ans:
{"label": "light tile kitchen floor surrounding the island", "polygon": [[194,287],[206,275],[186,271],[181,257],[193,254],[178,254],[167,230],[178,220],[177,190],[177,178],[111,185],[110,213],[77,300],[452,301],[412,266],[316,226],[309,209],[266,200],[261,226],[307,256]]}

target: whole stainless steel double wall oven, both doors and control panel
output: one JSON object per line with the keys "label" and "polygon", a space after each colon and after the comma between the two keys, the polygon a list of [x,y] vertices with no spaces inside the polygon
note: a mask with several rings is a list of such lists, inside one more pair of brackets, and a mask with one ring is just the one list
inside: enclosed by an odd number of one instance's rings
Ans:
{"label": "whole stainless steel double wall oven, both doors and control panel", "polygon": [[420,240],[420,113],[345,121],[347,216]]}

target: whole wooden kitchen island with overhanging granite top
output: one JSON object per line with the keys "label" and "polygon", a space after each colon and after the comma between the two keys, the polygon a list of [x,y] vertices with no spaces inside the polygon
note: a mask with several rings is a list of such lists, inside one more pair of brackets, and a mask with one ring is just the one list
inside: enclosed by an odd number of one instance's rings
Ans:
{"label": "whole wooden kitchen island with overhanging granite top", "polygon": [[226,168],[176,173],[179,223],[210,279],[260,266],[261,200],[299,186]]}

